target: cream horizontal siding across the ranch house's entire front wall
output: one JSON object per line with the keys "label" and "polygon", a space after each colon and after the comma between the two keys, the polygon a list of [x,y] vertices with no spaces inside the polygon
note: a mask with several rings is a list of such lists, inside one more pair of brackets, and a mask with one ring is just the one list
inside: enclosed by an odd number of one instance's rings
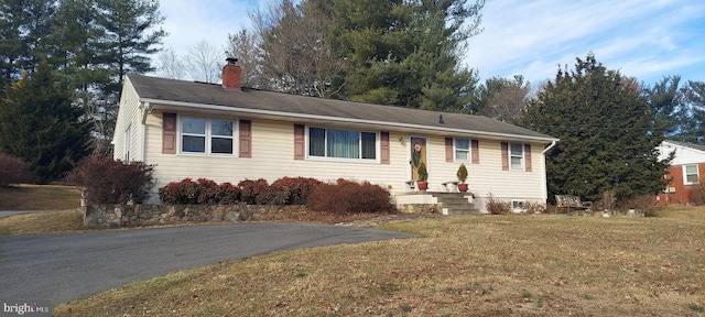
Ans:
{"label": "cream horizontal siding across the ranch house's entire front wall", "polygon": [[[180,113],[180,118],[181,116]],[[170,182],[178,182],[185,177],[193,179],[204,177],[217,183],[230,182],[232,184],[246,178],[265,178],[271,183],[283,176],[314,177],[321,181],[335,181],[344,177],[369,181],[391,189],[392,193],[404,192],[404,183],[410,179],[411,145],[409,144],[410,134],[406,132],[390,132],[390,164],[314,158],[296,161],[294,160],[293,122],[232,117],[227,119],[252,121],[251,158],[181,153],[174,155],[162,154],[161,118],[161,112],[152,113],[148,117],[145,125],[147,155],[144,161],[148,164],[156,165],[154,176],[158,178],[158,185],[154,192]],[[218,118],[225,119],[225,117]],[[459,163],[445,162],[444,138],[447,135],[413,135],[425,136],[429,140],[427,162],[431,190],[440,190],[440,184],[443,182],[455,181]],[[491,194],[496,198],[507,201],[527,199],[543,203],[545,181],[542,150],[542,144],[532,144],[533,172],[502,171],[500,141],[479,140],[480,163],[465,163],[469,173],[470,190],[478,197]]]}

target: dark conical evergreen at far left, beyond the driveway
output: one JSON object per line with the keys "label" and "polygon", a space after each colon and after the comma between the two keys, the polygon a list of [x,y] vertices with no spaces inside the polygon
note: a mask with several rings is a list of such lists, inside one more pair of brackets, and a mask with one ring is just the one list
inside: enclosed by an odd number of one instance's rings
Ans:
{"label": "dark conical evergreen at far left, beyond the driveway", "polygon": [[73,91],[46,62],[6,89],[0,102],[0,152],[29,163],[34,182],[63,177],[87,153],[90,122],[72,106]]}

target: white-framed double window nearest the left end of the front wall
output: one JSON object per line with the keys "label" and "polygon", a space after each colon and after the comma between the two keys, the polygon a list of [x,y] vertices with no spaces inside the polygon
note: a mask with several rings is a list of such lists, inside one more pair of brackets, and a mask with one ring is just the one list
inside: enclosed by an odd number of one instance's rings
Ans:
{"label": "white-framed double window nearest the left end of the front wall", "polygon": [[234,154],[235,122],[183,117],[181,151],[184,153]]}

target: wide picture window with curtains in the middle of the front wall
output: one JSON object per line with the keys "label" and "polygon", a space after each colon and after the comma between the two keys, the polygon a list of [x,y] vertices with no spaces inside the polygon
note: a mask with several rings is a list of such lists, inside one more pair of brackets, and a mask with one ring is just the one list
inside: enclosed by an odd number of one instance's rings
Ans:
{"label": "wide picture window with curtains in the middle of the front wall", "polygon": [[377,133],[308,128],[308,156],[377,160]]}

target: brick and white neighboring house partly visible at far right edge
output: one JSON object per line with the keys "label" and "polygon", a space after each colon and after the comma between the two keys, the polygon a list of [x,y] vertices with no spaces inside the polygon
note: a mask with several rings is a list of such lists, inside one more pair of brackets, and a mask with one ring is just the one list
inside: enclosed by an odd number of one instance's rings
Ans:
{"label": "brick and white neighboring house partly visible at far right edge", "polygon": [[671,183],[657,196],[659,206],[692,204],[693,185],[698,184],[701,171],[705,172],[705,145],[665,140],[659,145],[659,160],[674,153],[669,173]]}

